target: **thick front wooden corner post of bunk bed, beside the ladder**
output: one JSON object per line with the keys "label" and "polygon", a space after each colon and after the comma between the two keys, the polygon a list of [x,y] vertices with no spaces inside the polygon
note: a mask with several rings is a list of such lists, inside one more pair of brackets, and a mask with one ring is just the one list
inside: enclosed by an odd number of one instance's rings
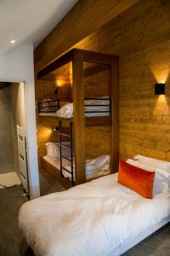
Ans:
{"label": "thick front wooden corner post of bunk bed, beside the ladder", "polygon": [[74,50],[72,60],[72,89],[74,108],[74,149],[76,184],[86,181],[85,173],[85,118],[84,118],[84,84],[83,54]]}

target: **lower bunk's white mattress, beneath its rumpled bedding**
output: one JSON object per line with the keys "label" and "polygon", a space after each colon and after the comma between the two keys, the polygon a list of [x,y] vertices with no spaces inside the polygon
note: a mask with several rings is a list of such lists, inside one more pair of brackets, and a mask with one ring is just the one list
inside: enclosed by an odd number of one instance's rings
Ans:
{"label": "lower bunk's white mattress, beneath its rumpled bedding", "polygon": [[[47,161],[50,165],[54,166],[58,170],[60,170],[60,158],[59,157],[49,157],[48,155],[44,155],[42,157],[43,160]],[[71,172],[71,162],[69,160],[66,160],[65,158],[62,159],[62,166],[68,169]],[[63,170],[64,177],[68,177],[71,180],[71,173],[66,172]],[[100,170],[96,169],[93,172],[86,172],[86,178],[93,179],[96,177],[101,177],[110,174],[110,169],[106,170]]]}

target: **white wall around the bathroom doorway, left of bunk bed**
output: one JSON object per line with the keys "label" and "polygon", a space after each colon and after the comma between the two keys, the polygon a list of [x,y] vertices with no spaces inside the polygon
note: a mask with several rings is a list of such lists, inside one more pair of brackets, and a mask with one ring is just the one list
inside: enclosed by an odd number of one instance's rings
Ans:
{"label": "white wall around the bathroom doorway, left of bunk bed", "polygon": [[32,44],[22,44],[20,47],[8,51],[8,53],[4,55],[0,55],[0,81],[26,83],[26,131],[32,199],[40,195],[37,165],[35,84]]}

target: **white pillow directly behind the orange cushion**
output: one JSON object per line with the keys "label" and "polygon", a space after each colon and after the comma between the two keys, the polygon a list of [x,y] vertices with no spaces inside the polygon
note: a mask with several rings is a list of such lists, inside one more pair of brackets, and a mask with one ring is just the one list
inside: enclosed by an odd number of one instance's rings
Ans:
{"label": "white pillow directly behind the orange cushion", "polygon": [[162,170],[159,170],[159,172],[157,172],[158,169],[156,167],[145,165],[137,160],[128,159],[127,163],[132,166],[137,166],[141,169],[144,169],[145,171],[156,172],[153,189],[154,195],[156,195],[157,193],[166,193],[169,191],[169,177],[167,177],[167,175],[164,175],[164,171],[161,172]]}

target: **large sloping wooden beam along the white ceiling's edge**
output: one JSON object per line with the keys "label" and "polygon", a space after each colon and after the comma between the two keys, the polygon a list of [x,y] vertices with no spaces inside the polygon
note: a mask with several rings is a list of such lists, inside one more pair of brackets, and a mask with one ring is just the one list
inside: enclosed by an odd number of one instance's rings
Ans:
{"label": "large sloping wooden beam along the white ceiling's edge", "polygon": [[35,50],[36,73],[136,2],[80,0]]}

